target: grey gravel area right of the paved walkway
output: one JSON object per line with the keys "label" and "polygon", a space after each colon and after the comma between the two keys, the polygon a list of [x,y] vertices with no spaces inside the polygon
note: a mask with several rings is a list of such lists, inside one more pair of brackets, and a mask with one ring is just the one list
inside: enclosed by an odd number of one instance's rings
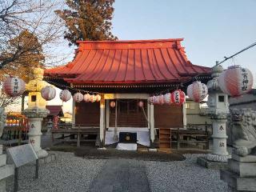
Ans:
{"label": "grey gravel area right of the paved walkway", "polygon": [[182,162],[146,162],[147,177],[152,192],[160,191],[226,191],[227,185],[219,177],[219,170],[202,168],[196,164],[202,154],[185,154]]}

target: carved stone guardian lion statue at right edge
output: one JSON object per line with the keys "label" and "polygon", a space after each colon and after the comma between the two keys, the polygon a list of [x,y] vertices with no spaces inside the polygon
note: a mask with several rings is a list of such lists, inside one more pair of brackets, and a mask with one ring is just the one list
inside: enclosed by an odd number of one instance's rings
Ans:
{"label": "carved stone guardian lion statue at right edge", "polygon": [[256,111],[230,110],[230,128],[234,153],[239,156],[256,155]]}

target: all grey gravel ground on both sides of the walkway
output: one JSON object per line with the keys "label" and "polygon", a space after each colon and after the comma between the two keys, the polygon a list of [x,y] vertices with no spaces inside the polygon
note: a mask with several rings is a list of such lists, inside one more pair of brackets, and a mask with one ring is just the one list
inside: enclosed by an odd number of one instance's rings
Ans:
{"label": "all grey gravel ground on both sides of the walkway", "polygon": [[[97,181],[100,176],[98,175],[100,171],[109,167],[108,165],[113,164],[114,161],[118,161],[118,159],[78,158],[73,153],[67,152],[54,153],[57,154],[57,162],[43,164],[40,167],[38,180],[34,180],[34,166],[23,166],[21,168],[20,192],[89,191],[92,182]],[[219,170],[207,170],[196,164],[197,157],[200,155],[202,154],[185,154],[186,160],[178,162],[132,161],[136,162],[135,164],[145,166],[146,176],[152,192],[226,191],[227,186],[225,182],[220,180]],[[128,169],[127,167],[126,169]],[[124,170],[118,171],[122,172]],[[126,171],[130,171],[130,168]],[[122,181],[122,179],[119,180]],[[116,180],[116,182],[118,181]],[[123,180],[121,184],[124,182],[126,180]],[[7,191],[10,191],[10,186],[13,186],[13,178],[10,178],[7,184]],[[117,185],[120,185],[120,183],[117,183]]]}

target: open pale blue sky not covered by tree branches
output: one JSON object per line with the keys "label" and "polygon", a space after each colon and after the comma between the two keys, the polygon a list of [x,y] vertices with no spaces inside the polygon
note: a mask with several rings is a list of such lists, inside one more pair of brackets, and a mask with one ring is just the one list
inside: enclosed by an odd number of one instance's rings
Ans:
{"label": "open pale blue sky not covered by tree branches", "polygon": [[[256,42],[256,0],[116,0],[113,34],[120,40],[184,38],[190,62],[214,66]],[[73,58],[66,42],[55,51]],[[241,65],[256,76],[256,46],[223,63]],[[255,82],[255,81],[254,81]],[[49,105],[62,105],[57,97]],[[64,103],[71,111],[72,101]]]}

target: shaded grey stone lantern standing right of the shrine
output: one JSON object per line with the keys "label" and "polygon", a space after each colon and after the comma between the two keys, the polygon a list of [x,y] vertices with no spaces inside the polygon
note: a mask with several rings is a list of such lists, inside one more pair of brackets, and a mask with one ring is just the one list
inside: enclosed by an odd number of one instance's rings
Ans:
{"label": "shaded grey stone lantern standing right of the shrine", "polygon": [[217,63],[212,70],[212,79],[207,83],[209,90],[207,114],[213,122],[213,148],[206,159],[213,162],[227,162],[227,159],[230,158],[226,150],[226,122],[230,112],[228,95],[224,94],[218,86],[218,76],[222,71],[222,66]]}

